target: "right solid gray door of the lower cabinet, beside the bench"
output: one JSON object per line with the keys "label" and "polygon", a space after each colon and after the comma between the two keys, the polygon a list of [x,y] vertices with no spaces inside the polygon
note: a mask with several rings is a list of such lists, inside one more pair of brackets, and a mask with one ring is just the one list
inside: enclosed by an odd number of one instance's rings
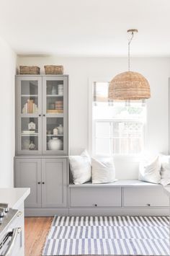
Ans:
{"label": "right solid gray door of the lower cabinet, beside the bench", "polygon": [[67,206],[67,159],[42,159],[42,207]]}

